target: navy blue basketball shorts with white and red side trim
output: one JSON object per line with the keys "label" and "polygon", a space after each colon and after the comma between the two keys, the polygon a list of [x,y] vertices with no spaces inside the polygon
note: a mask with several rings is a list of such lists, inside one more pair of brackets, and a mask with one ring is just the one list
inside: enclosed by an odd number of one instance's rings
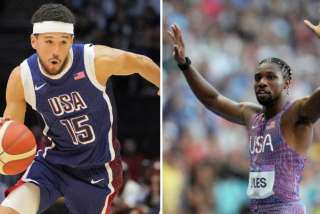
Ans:
{"label": "navy blue basketball shorts with white and red side trim", "polygon": [[64,197],[69,213],[109,213],[111,202],[122,185],[122,164],[118,157],[98,168],[80,169],[47,162],[39,151],[33,163],[16,184],[6,190],[7,196],[23,183],[32,182],[40,188],[38,213]]}

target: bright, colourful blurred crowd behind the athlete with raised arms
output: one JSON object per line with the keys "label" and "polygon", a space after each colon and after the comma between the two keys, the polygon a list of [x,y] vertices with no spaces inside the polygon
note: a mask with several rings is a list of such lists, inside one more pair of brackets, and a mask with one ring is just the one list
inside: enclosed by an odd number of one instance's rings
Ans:
{"label": "bright, colourful blurred crowd behind the athlete with raised arms", "polygon": [[[173,60],[166,31],[177,23],[186,56],[221,94],[257,103],[258,63],[278,57],[293,71],[289,99],[320,86],[320,40],[303,20],[319,23],[315,0],[163,0],[163,213],[248,213],[250,166],[245,127],[206,110]],[[300,196],[320,213],[320,122],[314,126]]]}

